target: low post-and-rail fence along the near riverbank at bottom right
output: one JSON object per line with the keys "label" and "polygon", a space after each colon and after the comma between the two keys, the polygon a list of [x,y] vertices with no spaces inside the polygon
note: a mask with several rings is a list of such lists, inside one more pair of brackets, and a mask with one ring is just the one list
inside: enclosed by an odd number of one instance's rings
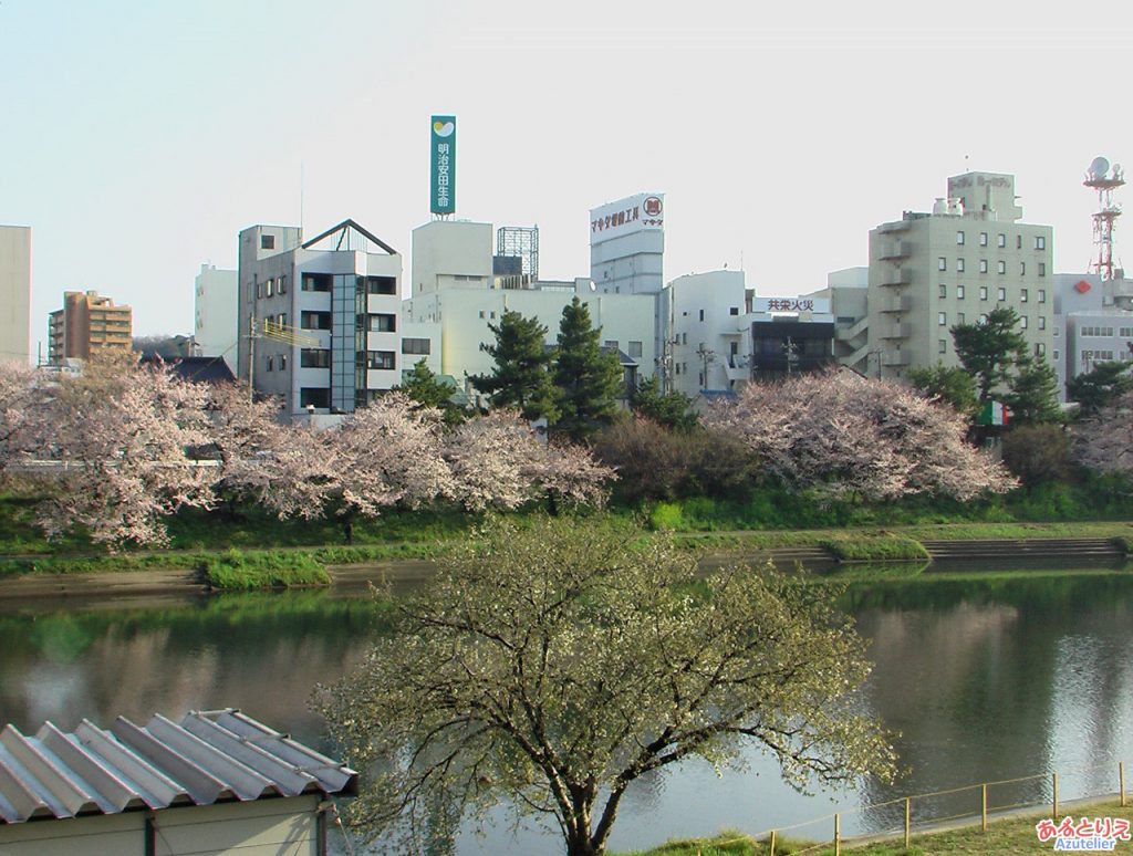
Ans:
{"label": "low post-and-rail fence along the near riverbank at bottom right", "polygon": [[[1039,796],[1036,797],[1036,794]],[[1051,819],[1057,819],[1063,813],[1060,810],[1072,802],[1102,799],[1115,794],[1121,805],[1127,804],[1124,761],[1074,768],[1064,770],[1062,774],[1048,771],[897,797],[789,827],[767,829],[756,833],[755,838],[766,841],[768,853],[773,856],[776,845],[787,836],[794,841],[817,841],[802,848],[793,845],[791,853],[794,856],[819,854],[832,848],[835,856],[841,856],[844,845],[860,846],[870,841],[898,841],[902,838],[905,848],[909,848],[912,837],[918,833],[977,825],[986,832],[993,818],[1045,807],[1050,808]],[[872,822],[869,825],[874,831],[843,836],[843,822],[853,815],[871,815]]]}

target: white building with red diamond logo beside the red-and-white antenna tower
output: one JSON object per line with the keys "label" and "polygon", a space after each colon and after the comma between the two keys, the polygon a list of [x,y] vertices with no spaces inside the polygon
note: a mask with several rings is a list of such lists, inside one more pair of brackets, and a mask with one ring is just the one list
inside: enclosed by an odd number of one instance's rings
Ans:
{"label": "white building with red diamond logo beside the red-and-white antenna tower", "polygon": [[1133,361],[1133,280],[1058,274],[1055,313],[1054,365],[1064,399],[1066,383],[1099,362]]}

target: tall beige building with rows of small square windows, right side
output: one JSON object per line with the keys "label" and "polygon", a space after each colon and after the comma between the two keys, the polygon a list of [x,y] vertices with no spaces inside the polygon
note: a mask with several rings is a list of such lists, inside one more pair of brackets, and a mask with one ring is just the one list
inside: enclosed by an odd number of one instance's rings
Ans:
{"label": "tall beige building with rows of small square windows, right side", "polygon": [[931,213],[905,212],[869,233],[867,350],[878,376],[959,366],[952,327],[996,307],[1014,309],[1031,352],[1051,359],[1053,230],[1021,222],[1015,199],[1014,176],[968,172],[948,179]]}

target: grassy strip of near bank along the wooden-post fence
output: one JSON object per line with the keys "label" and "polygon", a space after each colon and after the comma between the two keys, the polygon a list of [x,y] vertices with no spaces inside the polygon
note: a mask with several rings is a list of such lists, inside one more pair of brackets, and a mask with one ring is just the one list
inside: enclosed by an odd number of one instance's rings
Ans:
{"label": "grassy strip of near bank along the wooden-post fence", "polygon": [[[1073,818],[1122,818],[1133,821],[1133,806],[1122,807],[1116,801],[1100,802],[1084,806],[1075,806],[1068,814]],[[1034,824],[1049,814],[1017,815],[995,820],[988,824],[988,831],[981,832],[976,825],[948,829],[940,832],[926,832],[913,836],[912,846],[905,849],[897,841],[881,841],[854,846],[843,842],[842,853],[854,856],[940,856],[957,853],[995,853],[995,854],[1034,854],[1054,849],[1054,841],[1040,844],[1034,833]],[[827,848],[808,849],[813,842],[776,841],[776,856],[807,850],[812,856],[830,856],[833,845]],[[1121,849],[1122,842],[1117,849]],[[1125,845],[1127,846],[1127,845]],[[722,832],[714,838],[671,841],[650,850],[631,850],[611,854],[611,856],[770,856],[767,841],[755,839],[739,832]]]}

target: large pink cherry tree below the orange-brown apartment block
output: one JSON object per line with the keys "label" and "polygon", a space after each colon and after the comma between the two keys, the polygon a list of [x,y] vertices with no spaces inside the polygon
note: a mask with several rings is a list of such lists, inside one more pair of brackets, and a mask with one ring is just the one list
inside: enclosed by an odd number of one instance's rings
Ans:
{"label": "large pink cherry tree below the orange-brown apartment block", "polygon": [[60,464],[57,494],[40,508],[48,537],[79,525],[111,548],[162,545],[162,517],[210,507],[212,473],[186,453],[206,438],[203,387],[160,365],[62,378],[43,450]]}

